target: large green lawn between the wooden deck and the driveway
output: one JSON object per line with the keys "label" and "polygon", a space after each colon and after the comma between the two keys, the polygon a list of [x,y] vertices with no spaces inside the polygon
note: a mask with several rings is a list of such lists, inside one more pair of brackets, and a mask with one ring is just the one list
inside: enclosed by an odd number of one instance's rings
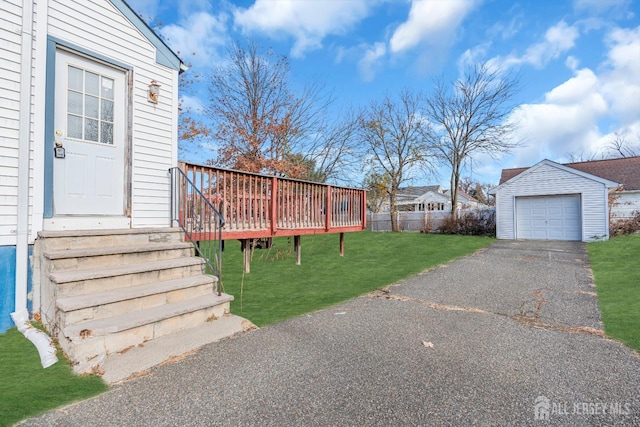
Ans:
{"label": "large green lawn between the wooden deck and the driveway", "polygon": [[276,238],[253,252],[251,273],[242,273],[240,242],[226,242],[224,291],[235,297],[231,312],[258,326],[319,310],[380,289],[400,279],[493,243],[486,237],[419,233],[302,236],[302,263],[295,264],[293,238]]}

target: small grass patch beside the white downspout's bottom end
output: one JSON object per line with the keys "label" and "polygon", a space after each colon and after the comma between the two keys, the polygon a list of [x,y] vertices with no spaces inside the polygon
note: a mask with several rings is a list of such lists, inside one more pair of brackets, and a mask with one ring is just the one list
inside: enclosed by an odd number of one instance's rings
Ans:
{"label": "small grass patch beside the white downspout's bottom end", "polygon": [[0,334],[0,426],[107,390],[96,376],[77,376],[58,352],[43,369],[36,347],[16,328]]}

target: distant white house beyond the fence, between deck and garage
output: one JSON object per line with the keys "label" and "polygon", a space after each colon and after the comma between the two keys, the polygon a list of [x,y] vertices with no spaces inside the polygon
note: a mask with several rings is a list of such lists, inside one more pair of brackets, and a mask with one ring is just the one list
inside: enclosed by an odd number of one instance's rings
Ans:
{"label": "distant white house beyond the fence, between deck and garage", "polygon": [[[451,194],[439,185],[424,187],[400,188],[397,195],[397,206],[401,212],[451,212]],[[458,190],[457,209],[477,209],[485,205],[462,190]],[[387,203],[383,210],[389,210]]]}

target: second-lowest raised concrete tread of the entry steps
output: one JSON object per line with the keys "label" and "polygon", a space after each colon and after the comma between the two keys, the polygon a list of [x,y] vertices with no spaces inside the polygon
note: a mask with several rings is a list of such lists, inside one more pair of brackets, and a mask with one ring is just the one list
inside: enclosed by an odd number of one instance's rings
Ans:
{"label": "second-lowest raised concrete tread of the entry steps", "polygon": [[201,274],[198,276],[148,283],[128,288],[118,288],[105,292],[58,298],[56,305],[60,310],[68,313],[74,310],[82,310],[104,304],[127,301],[134,298],[187,289],[195,286],[206,285],[208,283],[213,284],[217,281],[218,278],[215,276]]}

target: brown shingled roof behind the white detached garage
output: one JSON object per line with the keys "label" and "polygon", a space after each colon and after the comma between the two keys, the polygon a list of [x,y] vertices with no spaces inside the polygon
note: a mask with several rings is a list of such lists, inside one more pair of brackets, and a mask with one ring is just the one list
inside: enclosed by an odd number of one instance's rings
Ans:
{"label": "brown shingled roof behind the white detached garage", "polygon": [[[628,191],[640,190],[640,156],[565,163],[564,166],[620,183]],[[530,168],[503,169],[500,184],[520,175],[527,169]]]}

